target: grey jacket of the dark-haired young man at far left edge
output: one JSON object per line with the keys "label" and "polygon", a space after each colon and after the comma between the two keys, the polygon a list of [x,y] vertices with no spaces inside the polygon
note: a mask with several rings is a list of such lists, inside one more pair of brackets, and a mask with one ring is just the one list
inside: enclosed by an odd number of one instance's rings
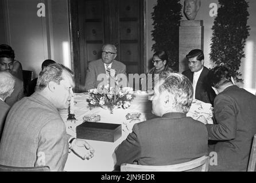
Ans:
{"label": "grey jacket of the dark-haired young man at far left edge", "polygon": [[15,79],[15,84],[14,84],[13,93],[11,93],[11,96],[7,97],[5,100],[6,104],[8,104],[9,106],[13,106],[15,102],[21,100],[21,98],[24,97],[23,82],[16,77],[14,77],[14,79]]}

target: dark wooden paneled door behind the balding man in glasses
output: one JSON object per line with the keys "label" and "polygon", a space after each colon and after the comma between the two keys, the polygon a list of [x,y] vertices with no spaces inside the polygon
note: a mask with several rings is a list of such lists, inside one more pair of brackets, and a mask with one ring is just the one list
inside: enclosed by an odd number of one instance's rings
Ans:
{"label": "dark wooden paneled door behind the balding man in glasses", "polygon": [[127,74],[146,72],[145,0],[71,0],[69,3],[76,92],[85,92],[88,62],[101,58],[105,43],[117,46],[116,59],[126,65]]}

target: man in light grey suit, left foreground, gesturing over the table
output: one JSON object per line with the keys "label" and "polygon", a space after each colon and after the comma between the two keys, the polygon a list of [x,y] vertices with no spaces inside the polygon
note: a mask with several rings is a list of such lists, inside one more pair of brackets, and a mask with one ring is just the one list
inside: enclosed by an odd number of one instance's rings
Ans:
{"label": "man in light grey suit, left foreground, gesturing over the table", "polygon": [[53,63],[39,74],[36,92],[10,109],[0,144],[0,164],[7,166],[49,166],[63,171],[68,152],[83,160],[94,156],[86,141],[66,133],[58,110],[67,109],[73,72]]}

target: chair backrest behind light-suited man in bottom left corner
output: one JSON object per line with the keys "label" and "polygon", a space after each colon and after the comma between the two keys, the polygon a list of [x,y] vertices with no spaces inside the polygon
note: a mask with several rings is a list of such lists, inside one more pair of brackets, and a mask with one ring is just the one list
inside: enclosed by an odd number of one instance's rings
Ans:
{"label": "chair backrest behind light-suited man in bottom left corner", "polygon": [[50,172],[49,166],[15,167],[0,165],[0,172]]}

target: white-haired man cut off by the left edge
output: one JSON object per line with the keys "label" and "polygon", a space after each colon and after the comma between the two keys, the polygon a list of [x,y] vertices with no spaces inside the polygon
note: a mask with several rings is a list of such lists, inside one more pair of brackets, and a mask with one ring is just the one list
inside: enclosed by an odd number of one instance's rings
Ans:
{"label": "white-haired man cut off by the left edge", "polygon": [[5,103],[5,99],[11,95],[14,88],[15,79],[9,72],[0,72],[0,140],[3,126],[10,106]]}

